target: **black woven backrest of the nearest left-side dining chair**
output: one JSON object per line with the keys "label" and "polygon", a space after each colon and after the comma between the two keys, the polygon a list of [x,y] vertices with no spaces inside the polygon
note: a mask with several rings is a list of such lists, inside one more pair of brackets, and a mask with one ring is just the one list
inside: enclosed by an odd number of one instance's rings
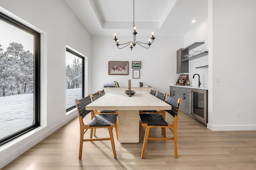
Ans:
{"label": "black woven backrest of the nearest left-side dining chair", "polygon": [[84,118],[88,113],[90,113],[92,110],[86,110],[85,107],[92,103],[92,100],[90,96],[87,96],[85,98],[82,98],[80,100],[76,99],[76,109],[78,112],[78,116]]}

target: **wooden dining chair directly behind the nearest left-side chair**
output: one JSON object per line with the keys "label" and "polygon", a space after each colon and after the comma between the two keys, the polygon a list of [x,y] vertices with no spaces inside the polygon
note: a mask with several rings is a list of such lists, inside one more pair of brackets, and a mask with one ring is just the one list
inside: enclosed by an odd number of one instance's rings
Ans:
{"label": "wooden dining chair directly behind the nearest left-side chair", "polygon": [[[100,93],[97,92],[94,94],[89,94],[88,96],[90,96],[91,101],[93,102],[93,101],[97,100],[98,98],[100,98]],[[98,115],[98,114],[116,114],[116,115],[118,115],[117,110],[100,110],[100,111],[93,110],[93,113],[94,113],[94,115]],[[116,130],[116,139],[118,140],[118,121],[116,121],[115,130]],[[96,136],[96,129],[93,130],[93,135]]]}

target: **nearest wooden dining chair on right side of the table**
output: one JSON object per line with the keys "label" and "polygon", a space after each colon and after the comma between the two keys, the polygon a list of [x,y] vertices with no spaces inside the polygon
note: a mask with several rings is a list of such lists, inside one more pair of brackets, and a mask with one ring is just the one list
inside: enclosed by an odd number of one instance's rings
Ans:
{"label": "nearest wooden dining chair on right side of the table", "polygon": [[[162,115],[160,114],[141,114],[140,115],[140,137],[142,134],[143,127],[145,129],[145,136],[144,136],[144,142],[143,142],[142,154],[141,154],[142,159],[145,156],[148,140],[173,140],[174,141],[174,157],[178,158],[177,124],[178,124],[178,116],[180,113],[181,99],[180,98],[176,99],[176,98],[167,96],[165,102],[172,106],[171,110],[166,110],[168,113],[170,113],[174,117],[174,121],[172,123],[166,122],[164,117],[162,117]],[[164,128],[163,137],[148,137],[149,130],[152,127]],[[166,131],[165,131],[166,127],[172,131],[173,137],[166,137]]]}

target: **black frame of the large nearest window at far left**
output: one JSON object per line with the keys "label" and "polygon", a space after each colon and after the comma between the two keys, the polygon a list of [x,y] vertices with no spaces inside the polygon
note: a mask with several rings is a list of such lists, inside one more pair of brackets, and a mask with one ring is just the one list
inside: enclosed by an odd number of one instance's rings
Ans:
{"label": "black frame of the large nearest window at far left", "polygon": [[0,140],[0,146],[40,126],[40,33],[0,12],[0,20],[34,35],[34,124]]}

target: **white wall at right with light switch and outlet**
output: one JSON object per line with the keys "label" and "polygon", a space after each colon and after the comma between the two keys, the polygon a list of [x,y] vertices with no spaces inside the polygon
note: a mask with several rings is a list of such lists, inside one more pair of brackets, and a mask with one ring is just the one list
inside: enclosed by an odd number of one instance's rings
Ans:
{"label": "white wall at right with light switch and outlet", "polygon": [[[212,108],[207,127],[212,130],[256,130],[255,9],[254,0],[209,0]],[[241,117],[237,111],[242,111]]]}

